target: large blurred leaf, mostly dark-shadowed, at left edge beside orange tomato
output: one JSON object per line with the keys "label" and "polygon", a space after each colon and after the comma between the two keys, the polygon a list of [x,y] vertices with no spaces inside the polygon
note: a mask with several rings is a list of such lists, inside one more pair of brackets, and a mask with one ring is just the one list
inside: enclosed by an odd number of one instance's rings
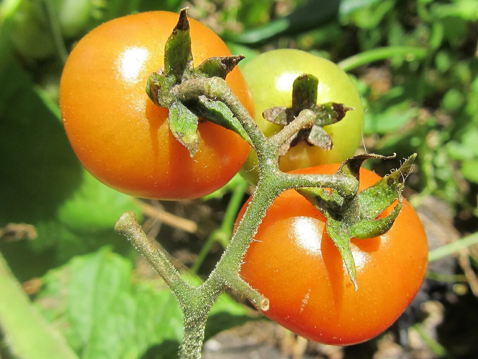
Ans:
{"label": "large blurred leaf, mostly dark-shadowed, at left edge beside orange tomato", "polygon": [[[46,101],[0,32],[0,228],[31,224],[33,239],[0,243],[20,280],[43,275],[76,254],[129,245],[113,231],[121,213],[140,213],[129,196],[98,182],[77,160],[59,109]],[[26,265],[28,263],[28,265]]]}

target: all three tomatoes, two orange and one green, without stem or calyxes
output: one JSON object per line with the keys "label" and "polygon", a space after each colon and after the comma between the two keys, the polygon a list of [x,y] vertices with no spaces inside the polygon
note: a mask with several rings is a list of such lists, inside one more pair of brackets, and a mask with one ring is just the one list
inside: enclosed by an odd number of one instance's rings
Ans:
{"label": "all three tomatoes, two orange and one green, without stem or calyxes", "polygon": [[[61,79],[62,119],[77,157],[97,179],[133,196],[204,196],[231,179],[250,152],[238,134],[199,121],[199,149],[191,157],[170,130],[168,109],[146,94],[151,73],[164,67],[165,44],[177,19],[177,14],[153,11],[100,25],[75,46]],[[200,22],[190,20],[190,34],[195,64],[230,55],[222,40]],[[244,67],[245,78],[236,67],[226,81],[269,137],[281,127],[264,120],[262,112],[290,107],[293,81],[304,73],[318,79],[318,105],[344,103],[354,111],[325,126],[332,149],[298,143],[282,156],[280,166],[295,173],[333,174],[338,165],[329,163],[352,156],[361,138],[363,109],[347,74],[320,57],[275,50],[251,60]],[[304,168],[315,165],[319,166]],[[251,182],[257,182],[255,168],[257,156],[252,152],[242,170]],[[361,169],[360,190],[378,179]],[[390,209],[379,217],[388,213]],[[254,239],[239,274],[269,298],[265,315],[322,343],[348,345],[378,335],[412,301],[424,279],[426,237],[406,201],[386,234],[352,238],[359,291],[327,235],[326,218],[294,190],[275,200]]]}

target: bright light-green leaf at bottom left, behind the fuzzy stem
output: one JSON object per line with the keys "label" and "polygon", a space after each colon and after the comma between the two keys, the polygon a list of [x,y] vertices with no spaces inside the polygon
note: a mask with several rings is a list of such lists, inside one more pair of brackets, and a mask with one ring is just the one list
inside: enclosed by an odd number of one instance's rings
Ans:
{"label": "bright light-green leaf at bottom left, behind the fuzzy stem", "polygon": [[[119,255],[102,249],[76,257],[50,271],[43,283],[35,303],[82,359],[141,358],[154,346],[177,350],[183,314],[174,296],[159,279],[138,279],[130,261]],[[247,320],[246,309],[223,295],[211,310],[207,335]]]}

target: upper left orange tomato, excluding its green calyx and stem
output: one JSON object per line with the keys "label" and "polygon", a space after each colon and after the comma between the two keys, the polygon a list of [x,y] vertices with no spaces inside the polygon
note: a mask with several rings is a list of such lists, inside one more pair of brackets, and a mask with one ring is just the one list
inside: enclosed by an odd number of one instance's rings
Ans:
{"label": "upper left orange tomato, excluding its green calyx and stem", "polygon": [[[190,158],[169,130],[168,110],[148,98],[146,81],[164,66],[164,44],[177,20],[176,13],[151,11],[105,22],[79,41],[63,70],[60,107],[76,156],[101,182],[132,196],[204,196],[226,184],[249,154],[239,135],[200,121],[199,151]],[[231,55],[212,30],[189,22],[195,66]],[[239,68],[226,81],[253,113]]]}

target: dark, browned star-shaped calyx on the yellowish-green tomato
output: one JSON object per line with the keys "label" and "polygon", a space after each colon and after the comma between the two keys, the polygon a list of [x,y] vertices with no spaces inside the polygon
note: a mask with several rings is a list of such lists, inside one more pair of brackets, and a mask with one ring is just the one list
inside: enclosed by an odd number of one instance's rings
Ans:
{"label": "dark, browned star-shaped calyx on the yellowish-green tomato", "polygon": [[324,150],[332,149],[332,138],[324,130],[323,126],[337,123],[345,117],[345,114],[353,110],[343,103],[327,102],[317,104],[317,86],[319,80],[311,74],[303,74],[293,82],[292,107],[272,107],[265,110],[262,116],[267,121],[285,126],[293,121],[302,110],[311,110],[317,116],[312,127],[303,128],[293,135],[281,150],[280,156],[284,156],[290,147],[304,142],[310,146],[318,146]]}

